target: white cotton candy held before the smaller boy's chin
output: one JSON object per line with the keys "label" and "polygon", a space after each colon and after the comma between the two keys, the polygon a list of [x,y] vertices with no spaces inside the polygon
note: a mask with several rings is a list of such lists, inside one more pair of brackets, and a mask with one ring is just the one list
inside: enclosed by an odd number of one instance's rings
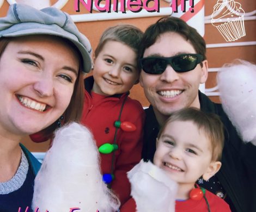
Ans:
{"label": "white cotton candy held before the smaller boy's chin", "polygon": [[[141,160],[127,173],[138,212],[175,211],[178,184],[159,167]],[[131,211],[132,212],[132,211]]]}

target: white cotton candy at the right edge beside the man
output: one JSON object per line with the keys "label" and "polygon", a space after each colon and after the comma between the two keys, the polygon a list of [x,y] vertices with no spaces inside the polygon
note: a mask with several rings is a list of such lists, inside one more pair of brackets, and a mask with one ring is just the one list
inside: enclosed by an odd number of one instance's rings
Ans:
{"label": "white cotton candy at the right edge beside the man", "polygon": [[256,145],[256,65],[237,60],[217,76],[225,113],[245,142]]}

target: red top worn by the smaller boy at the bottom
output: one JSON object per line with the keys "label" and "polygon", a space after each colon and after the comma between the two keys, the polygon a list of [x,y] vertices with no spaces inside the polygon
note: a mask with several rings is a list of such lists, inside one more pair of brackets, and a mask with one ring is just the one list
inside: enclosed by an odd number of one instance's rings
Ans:
{"label": "red top worn by the smaller boy at the bottom", "polygon": [[[222,198],[212,194],[210,191],[205,190],[206,199],[209,202],[211,212],[231,212],[228,203]],[[161,198],[161,197],[159,197]],[[130,198],[120,212],[135,212],[136,202],[133,198]],[[201,200],[187,199],[186,201],[175,202],[175,212],[207,212],[208,207],[204,198]]]}

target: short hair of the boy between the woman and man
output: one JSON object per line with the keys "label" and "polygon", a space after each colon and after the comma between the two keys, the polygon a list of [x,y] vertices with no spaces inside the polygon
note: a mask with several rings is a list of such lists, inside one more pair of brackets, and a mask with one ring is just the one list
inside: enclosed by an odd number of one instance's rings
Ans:
{"label": "short hair of the boy between the woman and man", "polygon": [[109,27],[101,35],[99,44],[95,49],[95,58],[99,55],[107,41],[121,42],[132,48],[137,54],[142,36],[142,30],[130,24],[120,24],[114,27]]}

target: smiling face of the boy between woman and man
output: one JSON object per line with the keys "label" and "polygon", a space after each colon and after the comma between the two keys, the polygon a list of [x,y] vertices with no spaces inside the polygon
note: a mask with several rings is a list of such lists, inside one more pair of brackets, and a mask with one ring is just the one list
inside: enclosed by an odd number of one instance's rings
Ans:
{"label": "smiling face of the boy between woman and man", "polygon": [[118,41],[107,41],[94,58],[92,91],[112,96],[129,91],[138,83],[137,54]]}

